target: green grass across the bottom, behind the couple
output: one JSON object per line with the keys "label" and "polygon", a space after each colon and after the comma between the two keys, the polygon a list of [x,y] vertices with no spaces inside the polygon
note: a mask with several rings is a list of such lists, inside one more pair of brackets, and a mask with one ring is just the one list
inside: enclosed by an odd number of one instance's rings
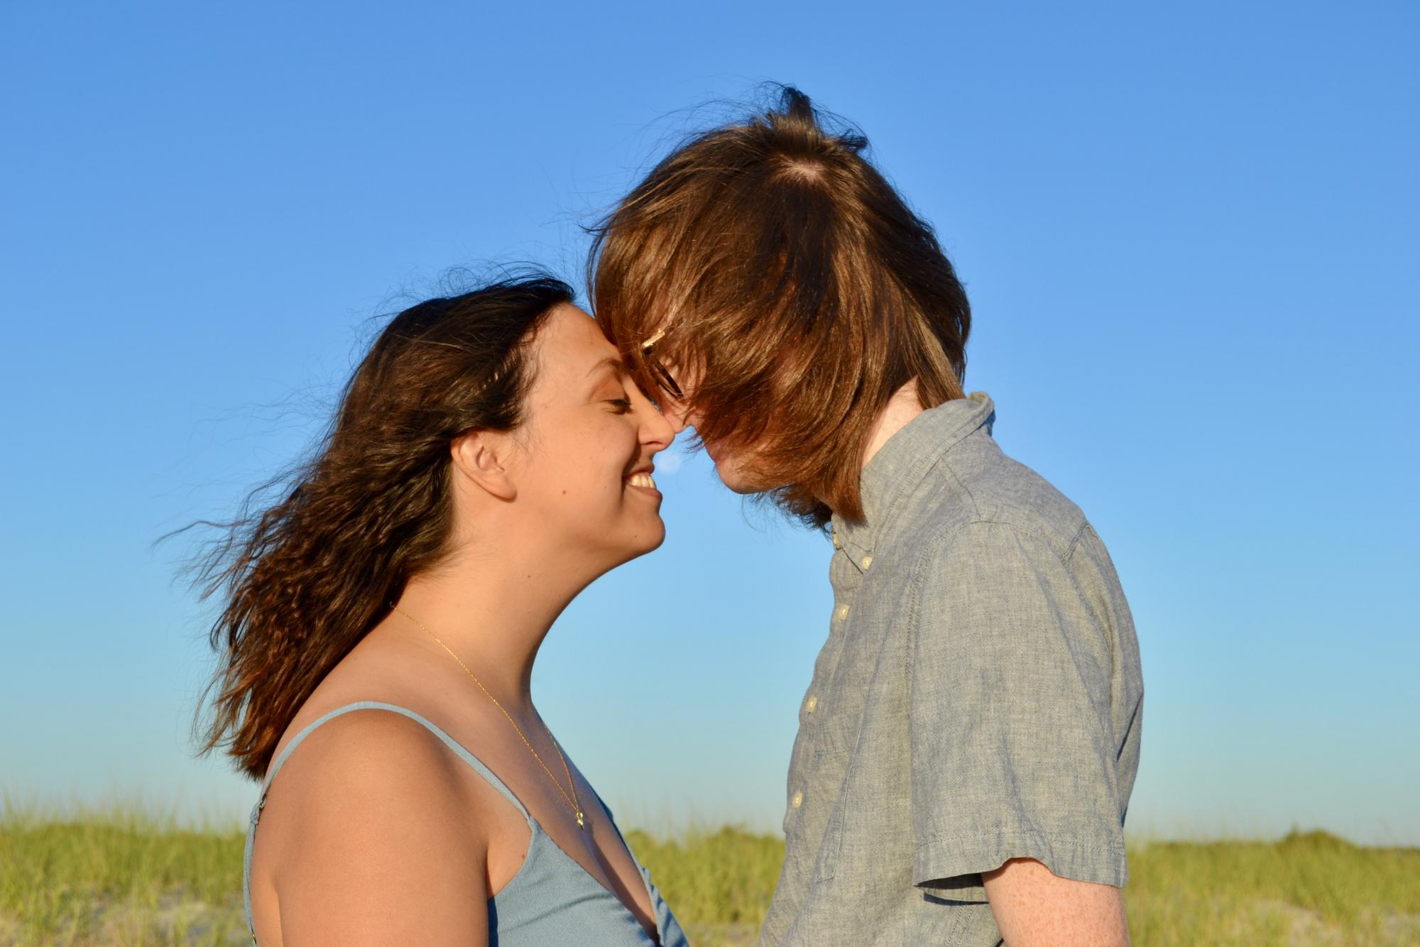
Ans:
{"label": "green grass across the bottom, behind the couple", "polygon": [[[784,855],[737,828],[628,832],[697,947],[751,944]],[[241,826],[133,806],[0,809],[0,944],[243,944]],[[1125,889],[1136,944],[1417,944],[1420,849],[1322,832],[1146,842]]]}

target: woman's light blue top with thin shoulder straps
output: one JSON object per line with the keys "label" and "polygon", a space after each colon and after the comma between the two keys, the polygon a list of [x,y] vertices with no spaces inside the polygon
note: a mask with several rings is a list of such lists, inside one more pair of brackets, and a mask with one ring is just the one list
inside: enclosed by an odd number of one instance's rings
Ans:
{"label": "woman's light blue top with thin shoulder straps", "polygon": [[[460,760],[487,779],[494,789],[501,792],[508,802],[517,806],[523,818],[528,821],[532,838],[528,841],[528,853],[523,860],[523,867],[513,876],[501,892],[488,899],[488,944],[490,947],[542,947],[545,944],[578,944],[579,947],[630,947],[632,944],[650,944],[650,937],[636,920],[636,916],[621,902],[619,897],[606,890],[601,882],[586,873],[581,865],[564,852],[554,842],[542,826],[537,823],[528,811],[513,795],[513,791],[503,785],[498,777],[493,775],[488,767],[463,748],[453,737],[433,726],[419,714],[405,707],[385,704],[375,700],[361,700],[354,704],[337,707],[324,714],[308,727],[295,734],[287,744],[275,764],[267,774],[261,785],[261,797],[251,809],[251,825],[247,828],[247,850],[241,872],[241,896],[247,912],[247,930],[251,931],[251,943],[256,944],[256,930],[251,924],[251,846],[256,842],[257,821],[261,818],[261,808],[266,805],[271,779],[281,771],[291,751],[295,750],[305,737],[327,720],[349,713],[352,710],[389,710],[419,721],[436,737],[453,750]],[[612,828],[616,828],[615,821]],[[621,829],[616,829],[621,838]],[[625,839],[622,839],[625,843]],[[630,852],[630,846],[626,846]],[[640,872],[650,894],[650,910],[656,916],[656,930],[660,934],[662,947],[689,947],[680,924],[670,914],[660,892],[650,883],[650,873],[642,867],[632,852],[632,862]]]}

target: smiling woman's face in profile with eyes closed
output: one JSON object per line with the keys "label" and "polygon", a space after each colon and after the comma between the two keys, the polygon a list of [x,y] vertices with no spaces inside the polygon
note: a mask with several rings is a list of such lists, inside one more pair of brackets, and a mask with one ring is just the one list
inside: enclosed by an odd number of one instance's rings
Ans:
{"label": "smiling woman's face in profile with eyes closed", "polygon": [[515,473],[540,528],[598,561],[625,562],[666,538],[653,457],[674,430],[622,371],[616,349],[574,305],[544,321],[528,354],[534,381]]}

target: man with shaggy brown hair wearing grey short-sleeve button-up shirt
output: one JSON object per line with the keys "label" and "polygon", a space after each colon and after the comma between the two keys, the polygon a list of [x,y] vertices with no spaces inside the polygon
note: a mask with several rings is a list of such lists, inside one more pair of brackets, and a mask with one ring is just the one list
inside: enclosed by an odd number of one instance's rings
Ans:
{"label": "man with shaggy brown hair wearing grey short-sleeve button-up shirt", "polygon": [[790,88],[596,233],[596,317],[731,490],[831,527],[761,944],[1126,944],[1143,681],[1083,514],[991,439],[970,310],[893,187]]}

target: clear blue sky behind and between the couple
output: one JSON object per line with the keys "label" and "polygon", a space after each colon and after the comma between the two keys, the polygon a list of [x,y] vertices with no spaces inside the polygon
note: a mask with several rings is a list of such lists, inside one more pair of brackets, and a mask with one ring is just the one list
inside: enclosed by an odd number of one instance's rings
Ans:
{"label": "clear blue sky behind and between the couple", "polygon": [[[778,80],[936,224],[968,388],[1109,544],[1130,829],[1420,843],[1417,45],[1407,3],[6,4],[0,788],[244,811],[153,540],[301,449],[373,317],[578,278],[687,106]],[[623,821],[772,826],[829,548],[674,466],[535,694]]]}

